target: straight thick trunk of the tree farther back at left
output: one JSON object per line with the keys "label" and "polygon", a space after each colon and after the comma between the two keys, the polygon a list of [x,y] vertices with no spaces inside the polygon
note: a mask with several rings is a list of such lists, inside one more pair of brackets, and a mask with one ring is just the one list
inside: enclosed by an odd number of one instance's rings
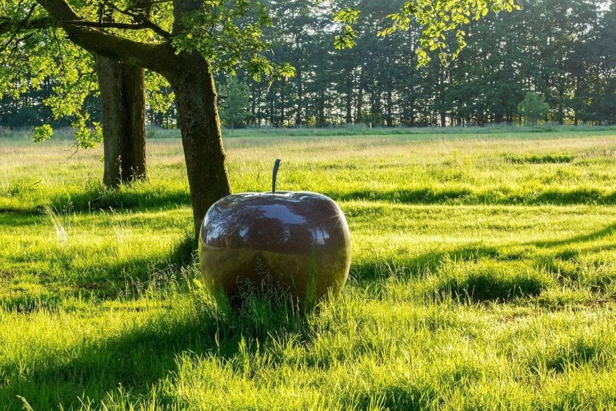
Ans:
{"label": "straight thick trunk of the tree farther back at left", "polygon": [[97,55],[101,91],[103,184],[146,178],[144,71]]}

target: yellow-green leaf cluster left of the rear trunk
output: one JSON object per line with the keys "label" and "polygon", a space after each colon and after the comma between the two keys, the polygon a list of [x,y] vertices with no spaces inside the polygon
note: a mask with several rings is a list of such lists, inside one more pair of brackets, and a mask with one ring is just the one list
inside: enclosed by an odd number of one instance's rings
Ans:
{"label": "yellow-green leaf cluster left of the rear trunk", "polygon": [[[92,55],[64,38],[34,3],[7,0],[0,16],[0,39],[5,39],[0,49],[0,97],[16,98],[49,87],[51,95],[41,102],[51,108],[53,119],[70,119],[82,147],[96,145],[99,125],[84,110],[86,99],[97,92]],[[49,138],[50,131],[48,124],[38,136]]]}

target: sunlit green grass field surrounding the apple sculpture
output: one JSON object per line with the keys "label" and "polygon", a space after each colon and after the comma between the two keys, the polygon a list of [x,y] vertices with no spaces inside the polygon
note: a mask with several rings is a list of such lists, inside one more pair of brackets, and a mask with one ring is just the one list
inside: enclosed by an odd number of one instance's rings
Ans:
{"label": "sunlit green grass field surrounding the apple sculpture", "polygon": [[616,132],[225,140],[235,192],[339,202],[342,295],[217,306],[177,139],[149,182],[0,138],[0,410],[616,408]]}

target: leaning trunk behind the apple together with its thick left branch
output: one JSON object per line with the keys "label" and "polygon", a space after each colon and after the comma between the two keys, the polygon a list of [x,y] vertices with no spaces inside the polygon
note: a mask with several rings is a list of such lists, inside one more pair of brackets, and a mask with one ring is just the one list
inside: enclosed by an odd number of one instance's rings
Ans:
{"label": "leaning trunk behind the apple together with its thick left branch", "polygon": [[[222,149],[216,88],[209,63],[196,53],[177,52],[170,38],[153,45],[84,26],[81,17],[66,0],[36,1],[64,29],[68,38],[80,47],[166,77],[178,105],[194,229],[195,235],[198,235],[209,206],[231,192]],[[183,30],[183,15],[197,10],[202,3],[200,0],[173,0],[174,35]]]}

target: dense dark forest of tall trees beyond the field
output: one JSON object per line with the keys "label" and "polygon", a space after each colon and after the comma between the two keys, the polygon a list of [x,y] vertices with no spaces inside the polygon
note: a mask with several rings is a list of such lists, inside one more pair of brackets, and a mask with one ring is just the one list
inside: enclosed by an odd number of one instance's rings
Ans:
{"label": "dense dark forest of tall trees beyond the field", "polygon": [[[274,62],[294,77],[218,77],[222,121],[244,125],[485,125],[523,123],[525,97],[536,94],[539,117],[559,124],[616,123],[616,6],[588,0],[526,0],[522,10],[489,14],[465,28],[467,46],[446,64],[437,55],[418,67],[419,29],[378,36],[402,1],[346,0],[360,10],[357,45],[333,47],[331,12],[301,0],[268,2],[264,33]],[[452,34],[450,53],[457,48]],[[43,101],[53,79],[19,99],[0,101],[0,124],[51,123]],[[163,94],[165,88],[159,89]],[[170,92],[170,91],[167,91]],[[154,98],[154,97],[153,97]],[[157,97],[159,99],[159,97]],[[86,110],[94,121],[99,103]],[[175,105],[149,105],[148,120],[175,127]],[[528,116],[526,116],[528,117]]]}

